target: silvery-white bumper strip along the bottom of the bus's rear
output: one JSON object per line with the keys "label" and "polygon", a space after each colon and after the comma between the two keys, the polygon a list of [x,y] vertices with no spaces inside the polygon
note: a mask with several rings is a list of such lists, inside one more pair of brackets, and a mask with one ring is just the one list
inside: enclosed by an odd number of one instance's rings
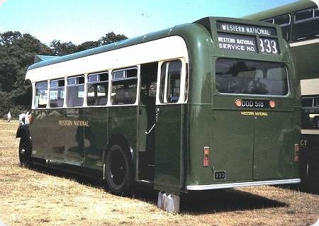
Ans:
{"label": "silvery-white bumper strip along the bottom of the bus's rear", "polygon": [[238,183],[216,183],[205,185],[189,185],[187,190],[189,191],[201,191],[201,190],[213,190],[222,188],[235,188],[235,187],[247,187],[247,186],[262,186],[262,185],[274,185],[274,184],[288,184],[288,183],[300,183],[301,179],[286,179],[275,181],[252,181],[252,182],[238,182]]}

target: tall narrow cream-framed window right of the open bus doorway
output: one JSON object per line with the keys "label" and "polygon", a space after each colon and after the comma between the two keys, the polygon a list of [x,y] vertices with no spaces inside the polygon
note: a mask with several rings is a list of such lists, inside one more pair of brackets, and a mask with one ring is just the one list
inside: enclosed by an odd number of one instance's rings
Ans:
{"label": "tall narrow cream-framed window right of the open bus doorway", "polygon": [[181,91],[181,60],[164,62],[161,67],[159,101],[177,103]]}

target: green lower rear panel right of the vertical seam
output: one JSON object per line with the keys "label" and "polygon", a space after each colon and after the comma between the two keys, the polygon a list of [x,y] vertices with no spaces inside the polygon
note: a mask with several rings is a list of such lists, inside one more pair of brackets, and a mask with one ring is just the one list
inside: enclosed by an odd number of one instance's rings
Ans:
{"label": "green lower rear panel right of the vertical seam", "polygon": [[[255,180],[293,177],[293,112],[267,112],[254,119]],[[280,127],[278,125],[281,125]]]}

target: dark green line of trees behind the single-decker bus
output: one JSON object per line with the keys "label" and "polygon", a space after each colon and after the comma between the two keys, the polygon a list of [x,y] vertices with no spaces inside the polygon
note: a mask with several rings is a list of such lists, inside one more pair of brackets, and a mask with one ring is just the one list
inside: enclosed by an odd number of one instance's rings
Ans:
{"label": "dark green line of trees behind the single-decker bus", "polygon": [[127,39],[125,35],[111,32],[80,45],[53,40],[47,46],[28,33],[0,33],[0,117],[11,111],[13,118],[17,118],[19,113],[31,108],[32,86],[24,77],[35,55],[62,56],[124,39]]}

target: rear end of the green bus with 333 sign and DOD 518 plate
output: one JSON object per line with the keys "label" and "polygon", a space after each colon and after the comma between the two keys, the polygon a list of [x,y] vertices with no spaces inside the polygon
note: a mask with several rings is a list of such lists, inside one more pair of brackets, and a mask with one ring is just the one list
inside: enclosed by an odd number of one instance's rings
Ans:
{"label": "rear end of the green bus with 333 sign and DOD 518 plate", "polygon": [[212,85],[203,89],[211,94],[202,94],[211,104],[196,111],[201,122],[190,121],[186,189],[299,183],[300,87],[280,28],[230,18],[196,23],[213,41]]}

